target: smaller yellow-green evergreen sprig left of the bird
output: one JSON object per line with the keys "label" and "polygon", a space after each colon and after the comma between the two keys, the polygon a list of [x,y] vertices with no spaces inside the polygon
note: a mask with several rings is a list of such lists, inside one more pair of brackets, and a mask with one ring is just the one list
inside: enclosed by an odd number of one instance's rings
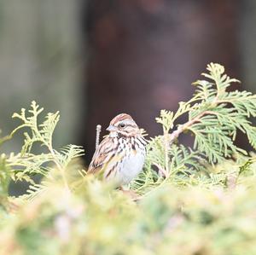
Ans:
{"label": "smaller yellow-green evergreen sprig left of the bird", "polygon": [[[80,156],[84,155],[84,149],[81,146],[67,145],[59,151],[53,148],[52,136],[55,131],[60,114],[48,113],[44,117],[43,123],[38,123],[38,116],[44,111],[43,107],[39,107],[35,101],[32,101],[31,109],[26,113],[26,109],[22,108],[20,113],[14,113],[13,118],[21,120],[19,125],[11,134],[20,129],[28,129],[24,132],[25,140],[20,154],[10,154],[8,158],[8,165],[15,173],[15,180],[24,180],[32,183],[31,191],[42,188],[42,184],[33,183],[31,176],[39,174],[40,176],[52,178],[52,172],[57,169],[61,175],[61,179],[65,187],[69,190],[69,183],[67,180],[68,165]],[[32,147],[38,142],[47,151],[41,154],[33,154]],[[51,164],[50,164],[51,163]],[[54,165],[52,165],[52,163]]]}

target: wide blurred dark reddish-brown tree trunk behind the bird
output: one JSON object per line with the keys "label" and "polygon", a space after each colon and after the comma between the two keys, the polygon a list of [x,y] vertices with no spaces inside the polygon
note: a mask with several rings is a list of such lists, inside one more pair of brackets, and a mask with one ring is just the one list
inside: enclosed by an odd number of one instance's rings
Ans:
{"label": "wide blurred dark reddish-brown tree trunk behind the bird", "polygon": [[88,111],[83,141],[90,160],[96,124],[130,113],[150,136],[160,109],[175,110],[207,63],[239,78],[237,1],[90,0],[84,34]]}

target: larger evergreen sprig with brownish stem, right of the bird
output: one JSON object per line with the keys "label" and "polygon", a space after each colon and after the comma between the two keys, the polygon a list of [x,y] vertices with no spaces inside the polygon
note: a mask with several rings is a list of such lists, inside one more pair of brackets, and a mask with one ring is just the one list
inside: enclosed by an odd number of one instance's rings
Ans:
{"label": "larger evergreen sprig with brownish stem, right of the bird", "polygon": [[[246,134],[248,142],[256,148],[256,127],[250,120],[256,116],[256,95],[228,91],[232,83],[239,81],[226,75],[219,64],[209,64],[207,71],[202,73],[206,79],[194,83],[195,95],[189,101],[180,102],[176,113],[162,110],[156,118],[163,127],[163,135],[148,143],[146,172],[156,166],[159,178],[191,179],[190,173],[201,171],[207,162],[213,165],[236,154],[247,155],[234,143],[238,130]],[[183,115],[187,116],[187,122],[177,125]],[[178,136],[187,132],[194,136],[193,149],[177,142]],[[153,182],[152,178],[148,180]],[[143,187],[152,185],[149,181],[143,183]],[[154,178],[155,183],[158,181]]]}

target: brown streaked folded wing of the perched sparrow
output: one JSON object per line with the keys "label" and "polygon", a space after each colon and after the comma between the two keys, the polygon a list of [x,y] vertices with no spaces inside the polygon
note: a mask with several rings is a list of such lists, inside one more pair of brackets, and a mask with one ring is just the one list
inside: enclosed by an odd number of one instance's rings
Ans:
{"label": "brown streaked folded wing of the perched sparrow", "polygon": [[113,159],[116,150],[117,144],[113,142],[113,138],[108,136],[104,138],[96,148],[88,168],[88,173],[95,174],[101,171]]}

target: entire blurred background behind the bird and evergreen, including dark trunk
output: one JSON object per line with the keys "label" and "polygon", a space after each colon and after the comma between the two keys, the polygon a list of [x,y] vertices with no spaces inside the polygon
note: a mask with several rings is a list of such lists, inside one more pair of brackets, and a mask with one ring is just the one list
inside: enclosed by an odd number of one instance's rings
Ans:
{"label": "entire blurred background behind the bird and evergreen, including dark trunk", "polygon": [[[0,0],[2,135],[36,100],[61,112],[55,147],[84,145],[89,161],[96,124],[131,113],[154,136],[211,61],[255,92],[255,24],[254,0]],[[19,149],[18,136],[1,148]]]}

